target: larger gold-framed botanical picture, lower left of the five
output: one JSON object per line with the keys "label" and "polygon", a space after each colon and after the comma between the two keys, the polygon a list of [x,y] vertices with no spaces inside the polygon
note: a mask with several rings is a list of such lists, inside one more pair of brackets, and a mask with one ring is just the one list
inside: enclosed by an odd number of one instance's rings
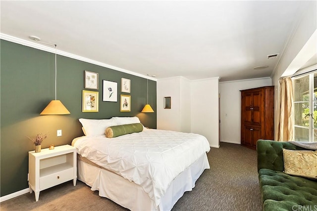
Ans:
{"label": "larger gold-framed botanical picture, lower left of the five", "polygon": [[98,112],[99,111],[99,92],[83,90],[82,112]]}

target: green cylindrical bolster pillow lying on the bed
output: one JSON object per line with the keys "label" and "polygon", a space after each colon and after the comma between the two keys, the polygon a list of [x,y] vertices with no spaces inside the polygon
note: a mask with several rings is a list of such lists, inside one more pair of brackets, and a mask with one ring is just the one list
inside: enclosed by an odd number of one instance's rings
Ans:
{"label": "green cylindrical bolster pillow lying on the bed", "polygon": [[134,132],[141,132],[142,130],[143,130],[143,125],[141,123],[111,126],[106,128],[106,137],[113,138],[120,135],[130,134]]}

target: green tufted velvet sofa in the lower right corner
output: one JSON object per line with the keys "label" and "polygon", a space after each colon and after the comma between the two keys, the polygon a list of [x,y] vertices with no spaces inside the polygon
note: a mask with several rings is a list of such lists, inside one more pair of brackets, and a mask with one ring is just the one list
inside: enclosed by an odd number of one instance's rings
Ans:
{"label": "green tufted velvet sofa in the lower right corner", "polygon": [[284,173],[283,148],[305,150],[288,142],[257,141],[263,211],[317,211],[317,180]]}

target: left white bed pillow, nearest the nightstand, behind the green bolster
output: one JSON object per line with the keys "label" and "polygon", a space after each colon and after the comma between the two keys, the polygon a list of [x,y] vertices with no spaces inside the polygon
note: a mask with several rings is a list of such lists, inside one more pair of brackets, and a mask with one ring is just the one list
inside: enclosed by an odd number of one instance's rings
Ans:
{"label": "left white bed pillow, nearest the nightstand, behind the green bolster", "polygon": [[95,136],[105,134],[106,128],[115,126],[116,123],[113,119],[109,120],[90,120],[90,119],[79,119],[79,122],[84,127],[85,135]]}

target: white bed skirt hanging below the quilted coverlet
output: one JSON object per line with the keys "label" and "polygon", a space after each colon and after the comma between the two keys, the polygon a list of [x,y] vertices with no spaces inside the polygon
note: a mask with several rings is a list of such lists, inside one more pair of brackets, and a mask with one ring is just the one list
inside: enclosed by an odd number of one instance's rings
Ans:
{"label": "white bed skirt hanging below the quilted coverlet", "polygon": [[196,180],[205,169],[210,169],[207,154],[204,153],[194,164],[179,174],[168,187],[161,198],[159,207],[153,200],[134,182],[122,176],[90,165],[82,160],[77,162],[78,179],[99,191],[99,196],[106,197],[113,202],[131,211],[169,211],[186,191],[195,187]]}

